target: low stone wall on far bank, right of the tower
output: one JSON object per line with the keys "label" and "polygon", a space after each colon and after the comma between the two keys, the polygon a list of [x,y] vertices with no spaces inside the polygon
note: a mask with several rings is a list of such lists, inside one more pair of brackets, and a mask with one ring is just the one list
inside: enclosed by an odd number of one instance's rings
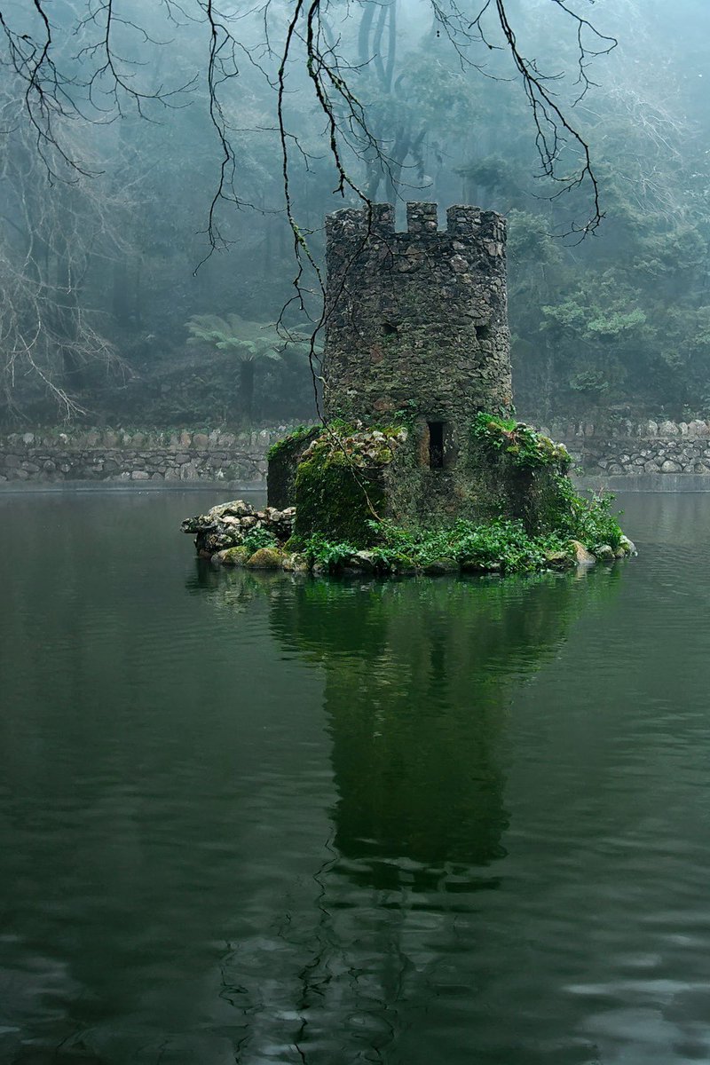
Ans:
{"label": "low stone wall on far bank, right of the tower", "polygon": [[552,423],[543,432],[566,444],[592,476],[710,474],[710,422]]}

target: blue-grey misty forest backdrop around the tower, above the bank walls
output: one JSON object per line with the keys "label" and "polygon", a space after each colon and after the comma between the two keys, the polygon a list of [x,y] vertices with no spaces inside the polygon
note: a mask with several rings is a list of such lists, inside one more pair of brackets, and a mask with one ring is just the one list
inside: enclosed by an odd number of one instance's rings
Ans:
{"label": "blue-grey misty forest backdrop around the tower, above the bank walls", "polygon": [[4,426],[313,420],[324,217],[362,197],[507,215],[521,414],[710,416],[700,0],[30,7],[0,12]]}

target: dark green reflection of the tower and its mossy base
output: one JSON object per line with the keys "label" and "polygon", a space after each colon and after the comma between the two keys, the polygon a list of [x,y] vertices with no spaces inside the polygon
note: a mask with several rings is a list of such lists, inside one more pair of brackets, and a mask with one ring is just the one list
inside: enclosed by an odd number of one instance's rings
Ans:
{"label": "dark green reflection of the tower and its mossy base", "polygon": [[481,867],[506,853],[509,681],[564,639],[576,591],[551,574],[281,586],[273,632],[326,670],[334,843],[356,881],[491,884]]}

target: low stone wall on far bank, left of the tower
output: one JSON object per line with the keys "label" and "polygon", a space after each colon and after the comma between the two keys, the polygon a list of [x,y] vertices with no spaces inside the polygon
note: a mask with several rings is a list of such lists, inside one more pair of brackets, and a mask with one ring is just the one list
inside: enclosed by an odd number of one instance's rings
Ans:
{"label": "low stone wall on far bank, left of the tower", "polygon": [[266,452],[288,428],[252,433],[96,429],[0,438],[0,481],[234,482],[263,488]]}

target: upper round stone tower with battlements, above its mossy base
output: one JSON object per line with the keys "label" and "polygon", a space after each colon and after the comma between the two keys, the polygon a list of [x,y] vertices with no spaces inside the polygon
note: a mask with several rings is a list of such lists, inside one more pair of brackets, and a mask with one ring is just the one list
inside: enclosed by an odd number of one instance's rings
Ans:
{"label": "upper round stone tower with battlements, above its mossy base", "polygon": [[397,233],[378,203],[331,214],[326,235],[326,419],[403,411],[453,454],[478,411],[512,399],[505,218],[451,207],[440,232],[435,203],[408,203]]}

